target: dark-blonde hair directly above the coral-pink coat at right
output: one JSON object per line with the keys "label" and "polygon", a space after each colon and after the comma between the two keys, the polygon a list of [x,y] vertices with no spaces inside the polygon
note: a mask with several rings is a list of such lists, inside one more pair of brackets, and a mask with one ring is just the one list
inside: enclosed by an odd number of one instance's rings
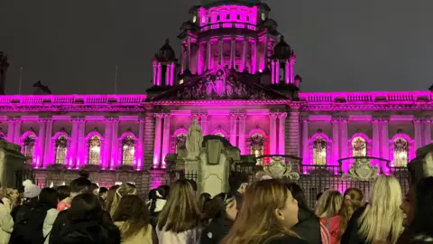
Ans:
{"label": "dark-blonde hair directly above the coral-pink coat at right", "polygon": [[314,211],[318,218],[330,218],[336,216],[341,208],[343,195],[336,190],[327,190],[318,199],[316,210]]}

